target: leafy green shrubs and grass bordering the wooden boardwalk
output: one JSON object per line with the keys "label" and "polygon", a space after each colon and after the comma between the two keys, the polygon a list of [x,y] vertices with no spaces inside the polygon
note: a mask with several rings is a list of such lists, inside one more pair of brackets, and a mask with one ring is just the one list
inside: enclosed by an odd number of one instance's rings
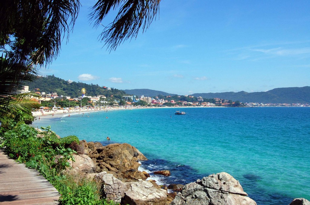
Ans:
{"label": "leafy green shrubs and grass bordering the wooden boardwalk", "polygon": [[79,176],[70,175],[64,170],[73,153],[80,152],[79,140],[71,135],[58,139],[51,127],[38,131],[25,124],[28,117],[18,117],[15,121],[4,117],[0,127],[0,148],[8,156],[27,167],[37,169],[60,192],[60,204],[116,205],[101,197],[100,185]]}

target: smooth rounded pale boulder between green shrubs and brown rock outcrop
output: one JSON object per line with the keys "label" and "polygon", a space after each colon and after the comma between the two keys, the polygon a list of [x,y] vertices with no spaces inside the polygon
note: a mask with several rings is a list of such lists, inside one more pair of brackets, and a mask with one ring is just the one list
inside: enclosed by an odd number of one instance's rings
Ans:
{"label": "smooth rounded pale boulder between green shrubs and brown rock outcrop", "polygon": [[95,173],[95,163],[89,156],[73,154],[73,157],[75,161],[69,161],[73,172]]}

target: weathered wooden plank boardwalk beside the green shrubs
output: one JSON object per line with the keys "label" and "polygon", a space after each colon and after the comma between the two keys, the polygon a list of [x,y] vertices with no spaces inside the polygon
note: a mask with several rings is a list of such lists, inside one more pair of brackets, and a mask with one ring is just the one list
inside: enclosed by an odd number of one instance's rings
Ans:
{"label": "weathered wooden plank boardwalk beside the green shrubs", "polygon": [[0,151],[0,205],[58,204],[59,192],[35,169],[16,163]]}

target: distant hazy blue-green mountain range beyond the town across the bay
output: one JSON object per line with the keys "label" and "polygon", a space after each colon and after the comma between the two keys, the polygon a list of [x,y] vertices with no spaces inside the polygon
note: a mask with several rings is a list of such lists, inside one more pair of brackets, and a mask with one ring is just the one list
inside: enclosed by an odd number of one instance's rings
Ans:
{"label": "distant hazy blue-green mountain range beyond the town across the bay", "polygon": [[[150,89],[133,89],[123,90],[126,93],[140,96],[153,97],[157,95],[175,94],[150,90]],[[275,88],[267,92],[217,92],[217,93],[194,93],[191,96],[203,98],[221,98],[226,100],[240,101],[240,102],[258,102],[258,103],[308,103],[310,104],[310,87],[302,88]]]}

